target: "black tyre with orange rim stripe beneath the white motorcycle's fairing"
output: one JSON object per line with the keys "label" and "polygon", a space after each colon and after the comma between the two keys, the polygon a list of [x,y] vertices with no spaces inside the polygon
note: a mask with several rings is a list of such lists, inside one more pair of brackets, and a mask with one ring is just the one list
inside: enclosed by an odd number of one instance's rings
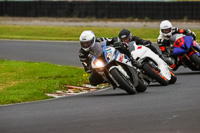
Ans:
{"label": "black tyre with orange rim stripe beneath the white motorcycle's fairing", "polygon": [[150,67],[149,64],[145,63],[142,68],[149,77],[152,77],[161,85],[163,86],[168,85],[169,81],[166,78],[162,77],[157,70]]}

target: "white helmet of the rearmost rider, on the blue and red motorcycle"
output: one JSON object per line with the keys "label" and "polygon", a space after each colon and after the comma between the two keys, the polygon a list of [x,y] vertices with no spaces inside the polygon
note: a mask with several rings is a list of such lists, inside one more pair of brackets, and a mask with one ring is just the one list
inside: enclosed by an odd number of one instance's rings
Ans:
{"label": "white helmet of the rearmost rider, on the blue and red motorcycle", "polygon": [[170,37],[172,35],[172,24],[168,20],[163,20],[160,23],[160,32],[165,36],[165,37]]}

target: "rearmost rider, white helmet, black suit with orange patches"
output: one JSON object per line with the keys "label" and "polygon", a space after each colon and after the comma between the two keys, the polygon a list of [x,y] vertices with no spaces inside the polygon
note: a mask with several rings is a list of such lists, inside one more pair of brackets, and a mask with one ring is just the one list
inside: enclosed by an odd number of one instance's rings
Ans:
{"label": "rearmost rider, white helmet, black suit with orange patches", "polygon": [[[171,22],[168,20],[163,20],[160,23],[160,34],[157,39],[157,43],[159,47],[164,46],[165,48],[168,49],[168,52],[170,52],[170,56],[175,59],[175,64],[171,65],[173,70],[177,70],[177,68],[180,66],[180,63],[177,61],[177,58],[173,56],[173,44],[171,44],[171,37],[174,34],[183,34],[186,36],[192,36],[194,40],[196,40],[196,35],[194,32],[191,32],[189,29],[179,29],[177,27],[173,27]],[[163,54],[165,54],[163,52]]]}

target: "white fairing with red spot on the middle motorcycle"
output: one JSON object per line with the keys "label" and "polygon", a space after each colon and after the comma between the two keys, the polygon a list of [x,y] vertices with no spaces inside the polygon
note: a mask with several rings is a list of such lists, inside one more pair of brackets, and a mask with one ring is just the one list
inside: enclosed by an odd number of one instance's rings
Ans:
{"label": "white fairing with red spot on the middle motorcycle", "polygon": [[153,51],[145,46],[136,45],[135,43],[134,46],[135,50],[131,52],[131,55],[134,59],[142,62],[146,58],[151,58],[157,63],[158,68],[161,70],[160,74],[168,80],[171,79],[169,66],[157,54],[155,54]]}

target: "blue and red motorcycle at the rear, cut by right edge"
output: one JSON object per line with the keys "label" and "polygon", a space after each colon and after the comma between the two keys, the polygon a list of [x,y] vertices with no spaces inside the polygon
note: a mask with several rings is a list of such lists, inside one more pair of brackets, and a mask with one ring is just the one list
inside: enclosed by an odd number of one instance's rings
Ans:
{"label": "blue and red motorcycle at the rear, cut by right edge", "polygon": [[171,37],[171,44],[174,48],[170,54],[166,48],[162,46],[161,51],[174,64],[171,66],[173,70],[177,70],[180,65],[189,68],[192,71],[200,70],[200,46],[193,40],[191,36],[184,36],[182,34],[175,34]]}

